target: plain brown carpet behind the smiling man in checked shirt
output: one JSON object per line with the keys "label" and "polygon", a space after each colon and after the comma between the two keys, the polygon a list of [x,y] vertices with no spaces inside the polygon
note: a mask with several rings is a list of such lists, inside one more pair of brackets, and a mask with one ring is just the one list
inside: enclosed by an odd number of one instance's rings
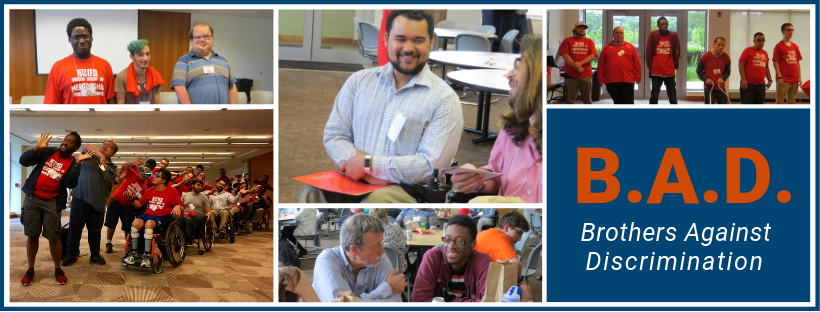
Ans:
{"label": "plain brown carpet behind the smiling man in checked shirt", "polygon": [[[450,70],[450,68],[448,68]],[[299,200],[302,183],[292,178],[338,169],[327,156],[322,133],[333,110],[336,94],[352,73],[279,70],[279,202]],[[439,77],[441,77],[439,72]],[[461,91],[456,91],[461,94]],[[475,103],[478,96],[472,90],[462,101]],[[496,99],[497,96],[493,96]],[[502,97],[490,109],[490,131],[497,132],[501,115],[509,110],[508,97]],[[477,106],[462,105],[464,126],[475,127]],[[475,145],[477,134],[462,132],[456,160],[460,164],[487,164],[492,143]]]}

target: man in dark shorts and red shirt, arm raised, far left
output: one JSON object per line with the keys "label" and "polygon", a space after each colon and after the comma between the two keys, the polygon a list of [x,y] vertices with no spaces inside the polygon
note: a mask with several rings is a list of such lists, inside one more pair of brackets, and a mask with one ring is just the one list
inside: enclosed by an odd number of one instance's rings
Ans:
{"label": "man in dark shorts and red shirt, arm raised, far left", "polygon": [[23,192],[26,199],[20,215],[23,232],[28,237],[26,255],[28,270],[20,283],[31,285],[34,281],[34,261],[40,248],[40,235],[48,239],[51,259],[54,260],[54,277],[57,284],[65,285],[68,279],[60,268],[63,246],[60,242],[60,211],[65,209],[68,188],[77,186],[79,171],[72,170],[75,159],[71,154],[82,144],[80,135],[71,132],[65,136],[59,148],[48,147],[51,134],[43,132],[37,145],[20,156],[20,164],[36,166],[26,179]]}

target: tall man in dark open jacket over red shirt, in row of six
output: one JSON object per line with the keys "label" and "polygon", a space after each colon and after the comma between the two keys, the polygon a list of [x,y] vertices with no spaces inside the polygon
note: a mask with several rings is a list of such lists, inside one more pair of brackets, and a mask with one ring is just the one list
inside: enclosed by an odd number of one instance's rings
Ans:
{"label": "tall man in dark open jacket over red shirt, in row of six", "polygon": [[649,104],[658,104],[663,85],[669,104],[678,104],[675,70],[680,64],[680,39],[677,32],[669,30],[666,17],[661,16],[657,23],[658,30],[651,31],[646,40],[646,68],[652,79]]}

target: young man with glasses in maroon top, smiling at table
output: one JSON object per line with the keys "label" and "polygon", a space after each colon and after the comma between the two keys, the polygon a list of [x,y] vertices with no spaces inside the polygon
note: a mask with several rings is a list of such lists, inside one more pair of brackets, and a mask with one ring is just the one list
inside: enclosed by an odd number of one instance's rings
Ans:
{"label": "young man with glasses in maroon top, smiling at table", "polygon": [[[431,302],[443,297],[446,302],[481,302],[487,270],[493,260],[475,250],[476,225],[466,215],[450,218],[444,229],[441,248],[424,254],[413,288],[414,302]],[[521,301],[532,300],[532,290],[520,284]]]}

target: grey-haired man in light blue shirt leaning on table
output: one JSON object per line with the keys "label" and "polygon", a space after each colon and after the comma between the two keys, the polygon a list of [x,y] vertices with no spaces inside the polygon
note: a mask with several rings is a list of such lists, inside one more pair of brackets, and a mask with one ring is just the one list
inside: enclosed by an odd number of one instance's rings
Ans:
{"label": "grey-haired man in light blue shirt leaning on table", "polygon": [[354,296],[363,301],[401,302],[407,282],[384,254],[383,241],[384,222],[379,218],[366,213],[348,218],[339,232],[340,245],[316,258],[313,289],[319,299],[331,302]]}

